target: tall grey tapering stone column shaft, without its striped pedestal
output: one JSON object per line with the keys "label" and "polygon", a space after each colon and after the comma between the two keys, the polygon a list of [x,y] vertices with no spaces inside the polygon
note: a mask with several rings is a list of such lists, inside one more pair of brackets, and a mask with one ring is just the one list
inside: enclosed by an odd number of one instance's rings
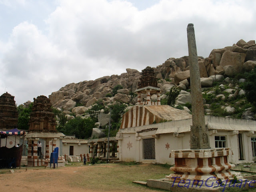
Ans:
{"label": "tall grey tapering stone column shaft, without its striped pedestal", "polygon": [[192,99],[192,126],[190,131],[190,148],[210,148],[208,128],[204,120],[204,106],[200,82],[198,56],[196,50],[196,38],[194,24],[188,24],[188,58],[190,68],[190,87]]}

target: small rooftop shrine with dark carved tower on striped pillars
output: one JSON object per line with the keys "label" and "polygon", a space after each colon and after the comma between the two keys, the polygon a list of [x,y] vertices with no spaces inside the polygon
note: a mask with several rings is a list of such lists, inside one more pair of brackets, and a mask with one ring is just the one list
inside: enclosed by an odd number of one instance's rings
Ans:
{"label": "small rooftop shrine with dark carved tower on striped pillars", "polygon": [[[146,67],[142,70],[142,76],[140,82],[138,83],[138,89],[135,93],[138,94],[139,105],[161,105],[160,103],[160,88],[157,87],[157,78],[154,73],[154,69],[151,67]],[[141,94],[147,94],[146,101],[142,101]],[[156,94],[157,101],[151,101],[151,95]]]}

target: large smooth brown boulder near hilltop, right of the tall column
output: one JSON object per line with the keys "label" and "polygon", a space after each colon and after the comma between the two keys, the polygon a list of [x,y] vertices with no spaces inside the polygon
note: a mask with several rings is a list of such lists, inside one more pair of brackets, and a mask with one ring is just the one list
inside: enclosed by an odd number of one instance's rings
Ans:
{"label": "large smooth brown boulder near hilltop, right of the tall column", "polygon": [[232,51],[226,51],[222,54],[220,65],[223,66],[224,69],[225,69],[225,66],[231,65],[234,67],[235,73],[240,73],[243,70],[245,57],[246,57],[245,53],[236,53]]}

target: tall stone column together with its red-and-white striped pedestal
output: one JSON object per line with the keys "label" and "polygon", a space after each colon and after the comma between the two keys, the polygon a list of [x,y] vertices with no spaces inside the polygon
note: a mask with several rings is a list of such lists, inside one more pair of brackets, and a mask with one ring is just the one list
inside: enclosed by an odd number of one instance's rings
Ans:
{"label": "tall stone column together with its red-and-white striped pedestal", "polygon": [[[232,155],[231,148],[211,148],[208,127],[204,120],[204,108],[200,83],[199,66],[197,60],[194,25],[188,24],[188,54],[190,65],[190,87],[192,98],[192,126],[190,127],[190,149],[172,150],[170,157],[175,158],[175,166],[170,170],[173,174],[166,176],[171,182],[186,181],[200,182],[200,185],[211,186],[214,182],[222,183],[236,177],[241,180],[240,172],[231,171],[234,164],[230,164],[228,156]],[[202,182],[203,181],[203,182]]]}

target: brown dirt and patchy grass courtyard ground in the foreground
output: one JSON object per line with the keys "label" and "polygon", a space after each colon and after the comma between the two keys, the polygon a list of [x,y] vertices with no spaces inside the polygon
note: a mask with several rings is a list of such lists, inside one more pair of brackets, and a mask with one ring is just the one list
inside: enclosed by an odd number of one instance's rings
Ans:
{"label": "brown dirt and patchy grass courtyard ground in the foreground", "polygon": [[[59,168],[30,167],[0,174],[1,192],[156,192],[132,180],[163,178],[168,169],[150,165],[100,164]],[[4,170],[0,170],[2,173]],[[159,173],[158,173],[159,171]],[[163,174],[162,174],[163,172]],[[152,175],[153,174],[153,175]]]}

